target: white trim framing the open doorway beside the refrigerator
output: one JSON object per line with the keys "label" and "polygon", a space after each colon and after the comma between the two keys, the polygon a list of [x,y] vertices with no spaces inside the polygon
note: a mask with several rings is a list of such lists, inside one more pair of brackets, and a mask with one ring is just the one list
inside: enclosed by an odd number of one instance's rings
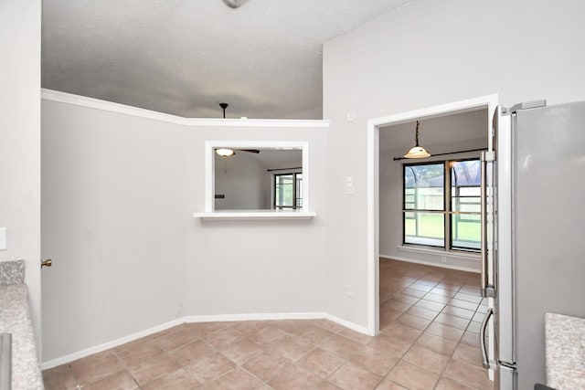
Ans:
{"label": "white trim framing the open doorway beside the refrigerator", "polygon": [[[415,111],[401,112],[367,121],[367,332],[379,332],[379,135],[380,127],[406,121],[431,119],[487,108],[486,127],[498,104],[498,95],[460,100]],[[491,137],[488,139],[491,140]],[[491,141],[490,141],[491,142]]]}

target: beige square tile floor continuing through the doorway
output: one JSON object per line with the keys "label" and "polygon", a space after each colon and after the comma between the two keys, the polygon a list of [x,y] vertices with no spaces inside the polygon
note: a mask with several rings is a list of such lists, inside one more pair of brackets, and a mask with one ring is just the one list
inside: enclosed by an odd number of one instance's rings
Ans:
{"label": "beige square tile floor continuing through the doorway", "polygon": [[51,368],[52,389],[492,389],[479,276],[380,260],[380,334],[332,321],[185,323]]}

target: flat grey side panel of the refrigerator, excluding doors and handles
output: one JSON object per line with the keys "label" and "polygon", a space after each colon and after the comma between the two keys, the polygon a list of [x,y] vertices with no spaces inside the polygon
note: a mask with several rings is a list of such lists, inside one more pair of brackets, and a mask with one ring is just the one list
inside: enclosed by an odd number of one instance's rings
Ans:
{"label": "flat grey side panel of the refrigerator, excluding doors and handles", "polygon": [[585,317],[585,102],[517,111],[517,388],[546,383],[545,312]]}

